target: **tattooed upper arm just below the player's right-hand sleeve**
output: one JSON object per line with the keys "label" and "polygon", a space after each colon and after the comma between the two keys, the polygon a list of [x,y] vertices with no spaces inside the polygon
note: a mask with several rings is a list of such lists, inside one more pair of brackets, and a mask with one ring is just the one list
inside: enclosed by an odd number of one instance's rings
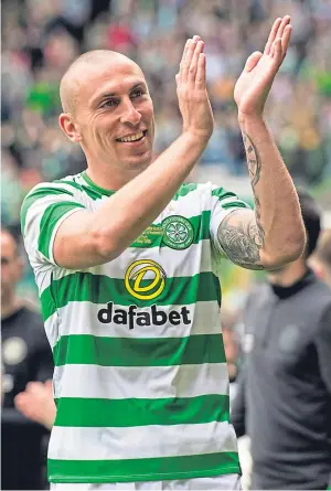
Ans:
{"label": "tattooed upper arm just below the player's right-hand sleeve", "polygon": [[250,213],[244,210],[229,213],[221,222],[217,236],[224,253],[233,263],[247,269],[264,269],[259,257],[261,236]]}

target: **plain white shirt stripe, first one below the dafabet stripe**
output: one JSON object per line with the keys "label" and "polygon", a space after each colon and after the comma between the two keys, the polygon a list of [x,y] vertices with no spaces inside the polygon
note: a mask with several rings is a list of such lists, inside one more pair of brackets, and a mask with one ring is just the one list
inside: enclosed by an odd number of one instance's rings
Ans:
{"label": "plain white shirt stripe, first one below the dafabet stripe", "polygon": [[[220,351],[222,349],[220,343]],[[68,364],[55,367],[53,382],[56,398],[153,399],[228,395],[226,363],[145,367]]]}

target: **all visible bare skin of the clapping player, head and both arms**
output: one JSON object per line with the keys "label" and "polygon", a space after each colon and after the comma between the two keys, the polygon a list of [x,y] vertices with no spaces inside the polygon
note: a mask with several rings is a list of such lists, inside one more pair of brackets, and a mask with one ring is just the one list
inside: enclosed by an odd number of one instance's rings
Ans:
{"label": "all visible bare skin of the clapping player, head and both arms", "polygon": [[[275,21],[264,53],[248,57],[234,92],[255,213],[232,212],[220,224],[217,237],[233,263],[250,269],[281,267],[305,248],[298,196],[263,118],[287,52],[289,22],[288,15]],[[136,63],[114,52],[90,52],[64,76],[61,95],[66,113],[60,125],[82,146],[89,178],[118,192],[97,213],[77,212],[79,216],[64,221],[54,245],[58,265],[89,267],[117,257],[164,210],[193,169],[213,131],[203,46],[199,36],[186,42],[177,75],[183,131],[154,162],[152,103]],[[139,131],[147,131],[141,142],[118,141]]]}

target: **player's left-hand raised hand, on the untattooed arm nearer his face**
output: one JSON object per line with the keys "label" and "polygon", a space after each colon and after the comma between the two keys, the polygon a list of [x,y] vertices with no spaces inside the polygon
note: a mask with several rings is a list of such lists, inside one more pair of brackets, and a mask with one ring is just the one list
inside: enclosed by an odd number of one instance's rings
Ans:
{"label": "player's left-hand raised hand, on the untattooed arm nearer his face", "polygon": [[183,132],[207,141],[213,132],[214,118],[206,92],[203,47],[204,43],[197,35],[186,41],[175,81]]}

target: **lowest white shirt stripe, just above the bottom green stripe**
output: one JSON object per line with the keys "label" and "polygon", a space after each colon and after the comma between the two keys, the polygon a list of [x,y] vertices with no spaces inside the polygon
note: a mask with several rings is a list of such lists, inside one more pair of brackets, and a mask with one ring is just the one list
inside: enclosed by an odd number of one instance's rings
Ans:
{"label": "lowest white shirt stripe, just above the bottom green stripe", "polygon": [[76,428],[54,426],[49,458],[66,460],[138,459],[237,451],[226,421],[197,425]]}

